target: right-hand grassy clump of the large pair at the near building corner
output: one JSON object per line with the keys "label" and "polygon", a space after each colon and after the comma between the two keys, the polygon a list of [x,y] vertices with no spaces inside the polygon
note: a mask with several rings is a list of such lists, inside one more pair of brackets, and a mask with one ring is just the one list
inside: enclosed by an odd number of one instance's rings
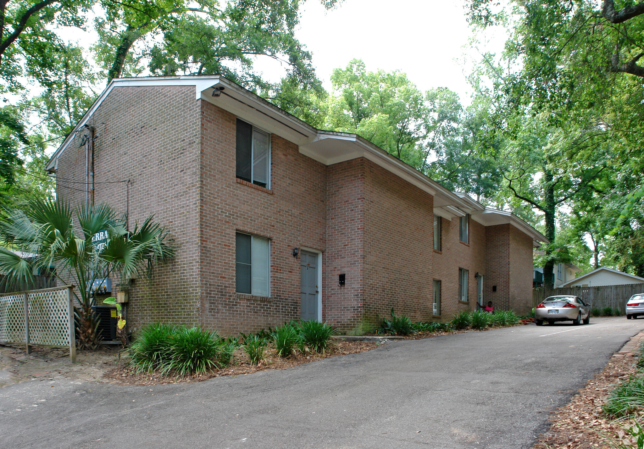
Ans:
{"label": "right-hand grassy clump of the large pair at the near building corner", "polygon": [[223,341],[216,332],[200,327],[179,327],[173,335],[171,358],[162,364],[162,372],[187,376],[218,368],[222,346]]}

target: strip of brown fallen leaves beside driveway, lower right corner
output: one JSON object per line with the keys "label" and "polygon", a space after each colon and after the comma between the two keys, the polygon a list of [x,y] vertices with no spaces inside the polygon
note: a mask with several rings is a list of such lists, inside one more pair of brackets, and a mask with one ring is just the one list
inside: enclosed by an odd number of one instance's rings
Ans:
{"label": "strip of brown fallen leaves beside driveway, lower right corner", "polygon": [[[640,334],[634,339],[638,339],[639,342],[643,336]],[[539,441],[533,447],[535,449],[637,447],[636,444],[631,446],[632,443],[627,443],[622,428],[622,425],[629,425],[632,421],[616,423],[601,411],[601,406],[608,399],[611,390],[638,372],[635,362],[636,358],[631,351],[622,350],[614,354],[600,374],[596,374],[589,380],[586,386],[572,397],[568,405],[549,412],[553,415],[549,419],[552,426],[548,432],[540,435]],[[545,412],[544,410],[543,413]],[[640,412],[640,415],[638,421],[644,419],[644,412]]]}

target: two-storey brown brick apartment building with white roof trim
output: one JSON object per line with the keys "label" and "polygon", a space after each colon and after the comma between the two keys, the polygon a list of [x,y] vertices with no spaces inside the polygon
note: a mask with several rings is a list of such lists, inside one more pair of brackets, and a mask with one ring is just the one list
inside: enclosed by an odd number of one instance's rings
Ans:
{"label": "two-storey brown brick apartment building with white roof trim", "polygon": [[176,247],[152,283],[133,283],[131,330],[314,318],[362,334],[392,307],[413,321],[532,307],[542,234],[223,77],[114,79],[74,131],[46,167],[59,198],[93,187],[130,226],[154,214]]}

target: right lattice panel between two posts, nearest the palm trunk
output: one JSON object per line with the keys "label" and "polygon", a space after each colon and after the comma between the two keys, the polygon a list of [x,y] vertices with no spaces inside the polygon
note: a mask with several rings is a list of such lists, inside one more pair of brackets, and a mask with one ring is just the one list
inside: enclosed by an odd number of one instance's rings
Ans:
{"label": "right lattice panel between two posts, nearest the palm trunk", "polygon": [[30,291],[29,343],[33,345],[68,346],[69,300],[67,289]]}

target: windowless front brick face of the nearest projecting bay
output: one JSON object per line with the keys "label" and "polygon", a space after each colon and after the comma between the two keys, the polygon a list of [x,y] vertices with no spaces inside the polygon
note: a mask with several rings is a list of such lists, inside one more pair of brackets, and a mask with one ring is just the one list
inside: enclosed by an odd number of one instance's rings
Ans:
{"label": "windowless front brick face of the nearest projecting bay", "polygon": [[431,320],[433,196],[365,160],[365,310],[363,329],[391,309]]}

